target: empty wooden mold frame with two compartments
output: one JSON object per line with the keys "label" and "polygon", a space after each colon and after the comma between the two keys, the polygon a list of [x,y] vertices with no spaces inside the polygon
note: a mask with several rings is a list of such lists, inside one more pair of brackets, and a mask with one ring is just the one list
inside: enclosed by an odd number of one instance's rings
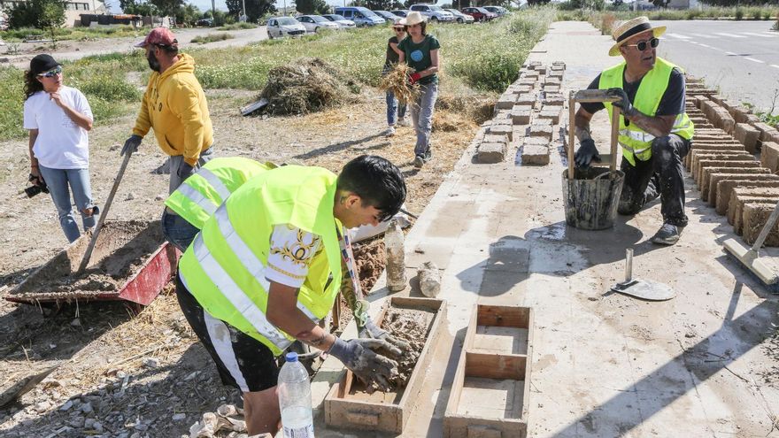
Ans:
{"label": "empty wooden mold frame with two compartments", "polygon": [[476,304],[443,416],[444,437],[528,435],[532,347],[532,309]]}

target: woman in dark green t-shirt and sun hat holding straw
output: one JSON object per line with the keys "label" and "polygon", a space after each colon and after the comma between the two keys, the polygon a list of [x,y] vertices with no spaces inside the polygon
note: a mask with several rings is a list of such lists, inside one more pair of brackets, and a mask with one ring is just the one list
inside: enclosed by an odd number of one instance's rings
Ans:
{"label": "woman in dark green t-shirt and sun hat holding straw", "polygon": [[417,134],[414,146],[414,166],[421,167],[433,158],[430,149],[430,132],[433,129],[433,107],[438,97],[438,40],[426,32],[427,22],[420,12],[410,12],[400,20],[408,36],[397,44],[403,53],[398,62],[405,62],[414,69],[408,77],[412,84],[418,83],[420,96],[411,105],[411,119]]}

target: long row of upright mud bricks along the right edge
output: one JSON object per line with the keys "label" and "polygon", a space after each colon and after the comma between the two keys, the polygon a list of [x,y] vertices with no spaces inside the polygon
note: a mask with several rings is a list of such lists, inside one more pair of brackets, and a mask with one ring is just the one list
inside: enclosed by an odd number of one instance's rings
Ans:
{"label": "long row of upright mud bricks along the right edge", "polygon": [[[687,113],[695,137],[684,165],[701,199],[727,215],[734,232],[752,244],[779,202],[779,126],[760,122],[749,109],[730,104],[692,78],[687,80]],[[779,246],[776,226],[766,246]]]}

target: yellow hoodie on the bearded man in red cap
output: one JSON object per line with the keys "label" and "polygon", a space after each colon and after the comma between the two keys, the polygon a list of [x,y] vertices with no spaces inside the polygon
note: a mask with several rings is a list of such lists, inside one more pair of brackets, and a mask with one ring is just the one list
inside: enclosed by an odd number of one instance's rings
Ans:
{"label": "yellow hoodie on the bearded man in red cap", "polygon": [[195,59],[189,55],[180,53],[165,72],[151,73],[133,134],[143,137],[152,127],[160,149],[171,156],[183,155],[189,165],[211,147],[208,103],[195,77]]}

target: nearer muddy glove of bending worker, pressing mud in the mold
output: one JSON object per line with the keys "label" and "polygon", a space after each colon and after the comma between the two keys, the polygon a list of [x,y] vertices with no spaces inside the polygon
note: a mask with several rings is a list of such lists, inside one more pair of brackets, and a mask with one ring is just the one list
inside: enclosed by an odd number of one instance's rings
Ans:
{"label": "nearer muddy glove of bending worker, pressing mud in the mold", "polygon": [[376,353],[377,350],[388,350],[392,354],[400,355],[397,347],[381,339],[343,341],[336,338],[336,343],[330,347],[328,353],[343,362],[359,380],[365,382],[368,391],[379,388],[386,392],[390,390],[390,378],[397,374],[397,362]]}

